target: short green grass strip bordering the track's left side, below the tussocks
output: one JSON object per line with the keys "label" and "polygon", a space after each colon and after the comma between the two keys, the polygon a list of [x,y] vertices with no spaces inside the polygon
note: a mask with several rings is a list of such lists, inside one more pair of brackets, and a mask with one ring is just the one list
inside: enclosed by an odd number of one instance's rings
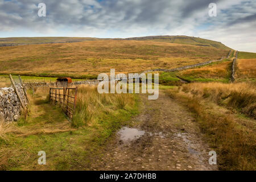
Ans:
{"label": "short green grass strip bordering the track's left side, below the tussocks", "polygon": [[[126,111],[118,110],[114,114],[101,115],[93,126],[81,128],[77,131],[56,133],[50,135],[30,135],[28,137],[11,137],[10,142],[1,144],[9,150],[20,150],[9,159],[7,166],[2,169],[22,170],[42,169],[72,170],[90,169],[90,163],[96,154],[100,154],[106,140],[119,129],[131,115],[137,113],[136,109]],[[4,145],[4,146],[3,146]],[[45,151],[47,165],[39,166],[37,155]],[[29,156],[24,158],[24,156]]]}

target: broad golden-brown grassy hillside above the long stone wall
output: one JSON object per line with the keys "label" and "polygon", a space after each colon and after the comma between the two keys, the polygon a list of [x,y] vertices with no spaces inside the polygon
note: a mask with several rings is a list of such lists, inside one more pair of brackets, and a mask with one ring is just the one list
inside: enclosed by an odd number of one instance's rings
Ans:
{"label": "broad golden-brown grassy hillside above the long stone wall", "polygon": [[81,77],[145,69],[175,68],[220,59],[228,50],[164,42],[99,40],[0,47],[0,72]]}

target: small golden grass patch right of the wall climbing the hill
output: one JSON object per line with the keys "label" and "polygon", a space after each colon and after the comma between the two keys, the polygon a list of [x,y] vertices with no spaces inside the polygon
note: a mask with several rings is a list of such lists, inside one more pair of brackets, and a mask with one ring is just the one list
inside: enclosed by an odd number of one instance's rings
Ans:
{"label": "small golden grass patch right of the wall climbing the hill", "polygon": [[239,78],[256,78],[256,59],[238,59],[237,68]]}

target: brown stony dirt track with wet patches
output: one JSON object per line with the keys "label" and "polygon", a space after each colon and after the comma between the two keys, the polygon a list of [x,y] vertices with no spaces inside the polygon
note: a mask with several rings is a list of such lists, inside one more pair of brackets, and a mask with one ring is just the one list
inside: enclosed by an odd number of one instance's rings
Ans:
{"label": "brown stony dirt track with wet patches", "polygon": [[159,93],[158,100],[141,95],[141,114],[131,121],[145,131],[132,141],[117,134],[94,170],[217,170],[208,163],[211,151],[204,142],[193,114],[175,100]]}

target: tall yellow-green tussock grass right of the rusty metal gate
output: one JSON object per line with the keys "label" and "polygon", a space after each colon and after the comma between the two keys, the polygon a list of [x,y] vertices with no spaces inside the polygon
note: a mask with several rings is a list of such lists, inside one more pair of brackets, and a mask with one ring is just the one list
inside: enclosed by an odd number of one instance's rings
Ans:
{"label": "tall yellow-green tussock grass right of the rusty metal gate", "polygon": [[77,90],[77,105],[72,126],[86,126],[102,113],[126,109],[134,104],[133,94],[100,94],[97,86],[80,85]]}

